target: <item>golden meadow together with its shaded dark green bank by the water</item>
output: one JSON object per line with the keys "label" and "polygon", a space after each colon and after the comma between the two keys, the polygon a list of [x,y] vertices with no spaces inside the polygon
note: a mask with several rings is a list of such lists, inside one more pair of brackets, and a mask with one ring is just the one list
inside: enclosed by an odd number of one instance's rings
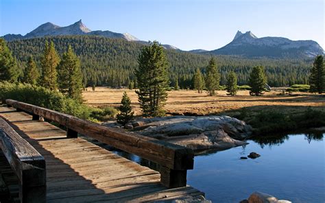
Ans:
{"label": "golden meadow together with its shaded dark green bank by the water", "polygon": [[[260,97],[250,96],[249,91],[239,91],[230,97],[226,91],[216,96],[197,91],[170,91],[165,110],[167,115],[228,115],[237,117],[254,128],[254,134],[286,132],[325,126],[325,95],[291,93],[282,95],[285,88],[278,88]],[[137,95],[128,89],[88,88],[83,96],[86,104],[96,107],[120,105],[123,91],[132,101],[135,115],[141,115]]]}

